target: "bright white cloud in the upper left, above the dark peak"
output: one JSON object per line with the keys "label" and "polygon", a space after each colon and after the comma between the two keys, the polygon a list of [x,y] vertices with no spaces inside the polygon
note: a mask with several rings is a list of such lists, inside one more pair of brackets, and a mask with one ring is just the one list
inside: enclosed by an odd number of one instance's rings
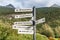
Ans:
{"label": "bright white cloud in the upper left, above the dark peak", "polygon": [[21,7],[22,8],[21,2],[16,2],[16,0],[2,0],[2,1],[0,1],[0,5],[2,5],[2,6],[8,5],[8,4],[12,4],[15,7]]}

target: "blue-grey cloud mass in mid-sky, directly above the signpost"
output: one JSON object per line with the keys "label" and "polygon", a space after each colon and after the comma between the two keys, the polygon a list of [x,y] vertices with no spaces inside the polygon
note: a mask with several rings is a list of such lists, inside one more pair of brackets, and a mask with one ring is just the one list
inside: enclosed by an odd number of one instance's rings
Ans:
{"label": "blue-grey cloud mass in mid-sky, directly above the signpost", "polygon": [[21,3],[23,7],[33,7],[33,6],[42,7],[48,3],[48,0],[24,0],[24,1],[22,0]]}

